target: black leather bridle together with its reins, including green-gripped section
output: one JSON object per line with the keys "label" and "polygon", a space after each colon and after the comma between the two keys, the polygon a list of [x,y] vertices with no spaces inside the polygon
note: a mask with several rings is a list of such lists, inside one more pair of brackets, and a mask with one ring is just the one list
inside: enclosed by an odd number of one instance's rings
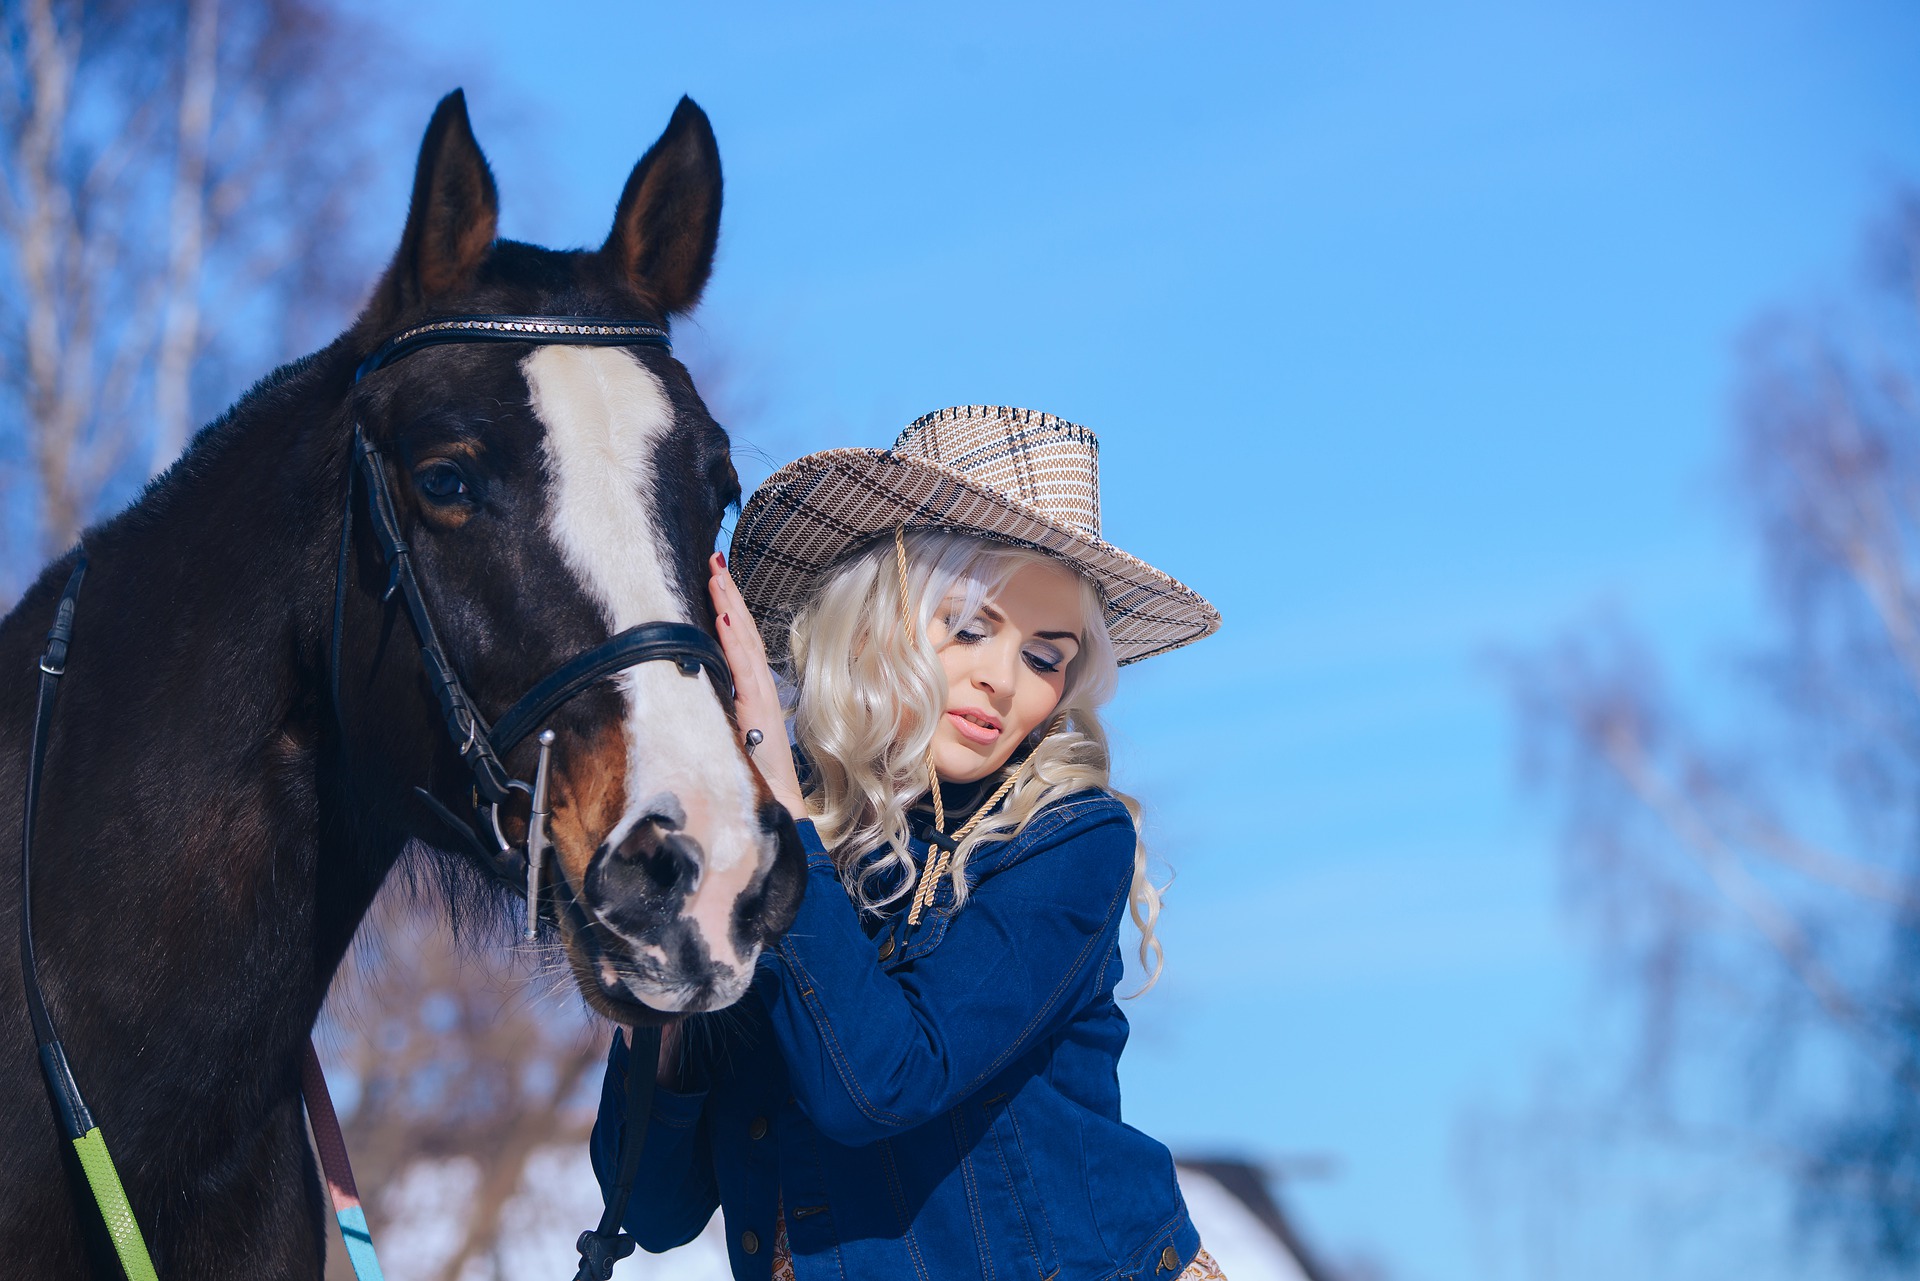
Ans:
{"label": "black leather bridle together with its reins, including green-gripped section", "polygon": [[[492,342],[530,342],[566,346],[653,346],[670,350],[668,330],[660,325],[639,321],[605,321],[593,317],[524,317],[524,315],[463,315],[428,321],[388,338],[353,371],[359,384],[372,373],[399,361],[422,348],[440,344],[492,344]],[[733,701],[733,674],[718,641],[701,628],[687,622],[641,622],[616,636],[586,649],[553,672],[538,680],[522,693],[499,720],[488,722],[472,695],[467,691],[453,666],[440,634],[434,628],[432,611],[420,592],[420,580],[413,568],[413,555],[401,534],[394,509],[394,495],[388,488],[386,461],[367,440],[361,424],[353,423],[353,446],[348,461],[346,505],[340,522],[340,559],[334,576],[334,616],[328,638],[328,693],[332,701],[334,724],[340,732],[342,757],[346,757],[346,716],[340,703],[340,647],[346,622],[346,584],[353,551],[353,492],[367,494],[367,515],[374,542],[388,570],[382,601],[392,601],[397,593],[413,624],[415,640],[420,645],[420,666],[434,691],[447,736],[453,739],[461,762],[472,776],[472,810],[467,820],[449,810],[424,787],[415,787],[430,812],[457,832],[480,857],[484,868],[526,895],[526,937],[534,939],[541,908],[541,864],[549,847],[549,770],[553,757],[553,730],[538,736],[540,757],[534,768],[534,782],[513,778],[507,772],[505,757],[513,753],[526,736],[545,718],[564,707],[570,699],[593,688],[601,680],[637,666],[641,663],[674,663],[684,676],[707,678],[714,693],[726,707]],[[359,484],[355,484],[359,482]],[[38,958],[33,947],[33,828],[35,809],[40,799],[40,776],[46,762],[46,745],[54,722],[54,697],[60,691],[60,678],[67,670],[67,651],[73,643],[73,615],[79,605],[81,582],[86,578],[86,549],[81,547],[73,565],[73,574],[60,595],[54,611],[54,626],[46,634],[46,649],[40,655],[40,686],[35,705],[33,741],[27,753],[27,793],[21,809],[19,841],[19,947],[21,972],[27,987],[27,1012],[33,1020],[35,1043],[38,1045],[40,1074],[46,1077],[48,1099],[54,1108],[61,1135],[73,1143],[75,1156],[86,1175],[94,1206],[106,1225],[108,1239],[119,1256],[121,1269],[129,1281],[157,1281],[154,1260],[148,1254],[146,1239],[134,1220],[132,1204],[121,1185],[119,1172],[108,1152],[106,1137],[94,1122],[92,1112],[81,1097],[81,1087],[67,1064],[65,1047],[46,1008],[40,991]],[[348,776],[348,772],[342,772]],[[530,814],[526,837],[520,843],[509,841],[499,824],[499,809],[515,791],[526,793]],[[480,834],[480,826],[490,828],[492,843]],[[564,878],[561,878],[564,880]],[[566,910],[578,922],[580,908],[572,895],[566,895]],[[614,1033],[618,1035],[618,1033]],[[636,1027],[632,1054],[628,1058],[626,1083],[626,1129],[620,1135],[620,1166],[612,1196],[607,1198],[599,1225],[584,1231],[576,1248],[580,1250],[580,1269],[574,1281],[607,1281],[616,1260],[634,1252],[636,1243],[620,1229],[626,1218],[626,1202],[639,1170],[639,1152],[647,1141],[647,1118],[653,1104],[653,1062],[659,1058],[659,1027]],[[328,1195],[334,1202],[334,1218],[340,1221],[346,1239],[348,1258],[359,1281],[382,1281],[380,1262],[372,1250],[372,1237],[367,1231],[367,1216],[359,1206],[359,1193],[353,1183],[353,1170],[348,1164],[346,1141],[340,1122],[334,1116],[332,1100],[326,1093],[326,1077],[321,1074],[319,1054],[309,1041],[301,1062],[301,1095],[307,1104],[307,1118],[313,1125],[315,1147],[326,1175]]]}

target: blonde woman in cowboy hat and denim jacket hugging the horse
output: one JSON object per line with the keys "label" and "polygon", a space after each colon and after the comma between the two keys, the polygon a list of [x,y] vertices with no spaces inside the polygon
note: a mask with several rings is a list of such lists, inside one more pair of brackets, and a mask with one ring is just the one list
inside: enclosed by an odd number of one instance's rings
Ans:
{"label": "blonde woman in cowboy hat and denim jacket hugging the horse", "polygon": [[[1119,665],[1219,615],[1100,540],[1096,447],[1052,415],[945,409],[781,469],[732,574],[714,557],[739,730],[774,739],[755,764],[808,883],[747,999],[645,1066],[626,1227],[647,1250],[718,1204],[735,1277],[1219,1275],[1167,1148],[1119,1120],[1119,926],[1131,908],[1150,985],[1160,897],[1094,714]],[[603,1185],[626,1070],[614,1037]]]}

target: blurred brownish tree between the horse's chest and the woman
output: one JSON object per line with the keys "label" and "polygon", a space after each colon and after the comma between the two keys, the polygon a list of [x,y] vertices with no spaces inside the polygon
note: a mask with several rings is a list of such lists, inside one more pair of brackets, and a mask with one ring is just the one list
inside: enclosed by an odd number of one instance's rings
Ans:
{"label": "blurred brownish tree between the horse's chest and the woman", "polygon": [[[374,1243],[422,1281],[493,1275],[528,1162],[584,1154],[599,1106],[611,1026],[586,1012],[557,949],[515,949],[492,937],[499,920],[482,908],[455,931],[442,895],[396,874],[317,1035]],[[405,1239],[388,1231],[397,1221]],[[336,1273],[351,1275],[338,1248]]]}

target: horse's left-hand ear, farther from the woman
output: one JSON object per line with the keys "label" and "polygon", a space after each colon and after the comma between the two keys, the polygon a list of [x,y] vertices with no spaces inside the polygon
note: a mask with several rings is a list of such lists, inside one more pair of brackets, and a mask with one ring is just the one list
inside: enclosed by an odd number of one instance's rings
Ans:
{"label": "horse's left-hand ear, farther from the woman", "polygon": [[499,230],[493,171],[474,142],[467,94],[453,90],[434,108],[413,171],[413,204],[399,252],[374,292],[374,311],[396,317],[468,282]]}

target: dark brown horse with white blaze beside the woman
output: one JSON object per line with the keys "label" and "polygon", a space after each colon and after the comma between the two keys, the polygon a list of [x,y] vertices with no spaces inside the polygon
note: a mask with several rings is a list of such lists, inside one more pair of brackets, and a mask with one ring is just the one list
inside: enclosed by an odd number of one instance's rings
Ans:
{"label": "dark brown horse with white blaze beside the woman", "polygon": [[[501,240],[455,90],[357,321],[202,428],[0,622],[13,832],[35,666],[86,557],[31,920],[46,1006],[161,1277],[321,1277],[300,1077],[328,981],[403,857],[493,870],[499,851],[459,814],[532,849],[526,787],[501,784],[536,753],[551,864],[534,899],[599,1014],[659,1026],[726,1006],[793,920],[804,851],[710,670],[707,555],[739,478],[660,342],[707,286],[720,196],[712,127],[682,98],[605,244]],[[436,340],[461,325],[478,332]],[[636,628],[680,636],[674,661],[568,666]],[[572,676],[536,709],[547,734],[482,770],[484,730],[549,672]],[[0,864],[0,930],[19,931],[21,891]],[[48,1110],[23,981],[0,962],[0,1260],[117,1277]]]}

